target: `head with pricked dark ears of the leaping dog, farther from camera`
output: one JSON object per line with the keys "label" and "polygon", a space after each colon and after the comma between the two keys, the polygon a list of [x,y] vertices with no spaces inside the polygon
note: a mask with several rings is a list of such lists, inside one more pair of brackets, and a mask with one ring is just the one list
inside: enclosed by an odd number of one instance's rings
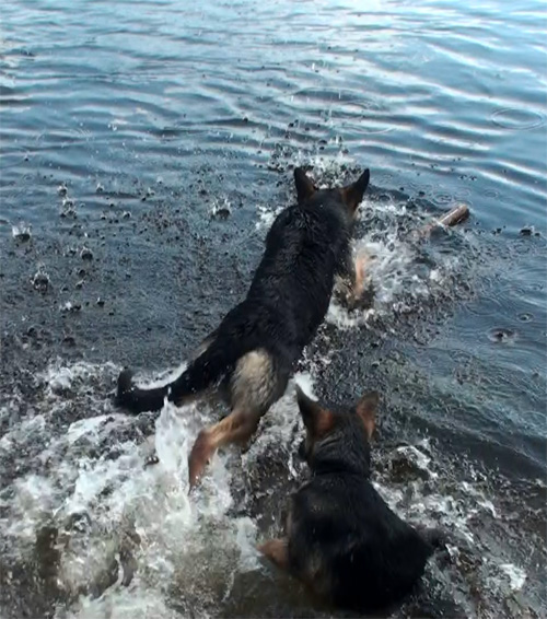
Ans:
{"label": "head with pricked dark ears of the leaping dog, farther from camera", "polygon": [[330,189],[317,189],[313,180],[306,175],[303,167],[294,168],[294,184],[296,186],[296,199],[299,205],[323,203],[326,200],[334,200],[345,208],[346,211],[354,217],[357,208],[363,199],[364,191],[369,186],[371,173],[365,170],[361,176],[351,185],[344,187],[333,187]]}

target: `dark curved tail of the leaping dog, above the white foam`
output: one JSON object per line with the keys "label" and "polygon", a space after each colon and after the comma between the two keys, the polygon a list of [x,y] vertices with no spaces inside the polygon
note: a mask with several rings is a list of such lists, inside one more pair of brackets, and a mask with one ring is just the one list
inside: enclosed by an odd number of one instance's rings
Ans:
{"label": "dark curved tail of the leaping dog, above the white foam", "polygon": [[116,402],[135,413],[161,410],[165,397],[168,401],[182,402],[218,384],[234,366],[237,357],[235,350],[226,352],[212,343],[175,381],[150,389],[135,385],[131,371],[126,369],[118,376]]}

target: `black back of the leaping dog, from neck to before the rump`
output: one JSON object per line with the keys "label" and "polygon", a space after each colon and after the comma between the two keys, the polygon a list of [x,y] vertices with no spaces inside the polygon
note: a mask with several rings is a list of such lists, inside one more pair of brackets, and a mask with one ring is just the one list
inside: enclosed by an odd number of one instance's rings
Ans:
{"label": "black back of the leaping dog, from neck to before the rump", "polygon": [[216,339],[296,360],[328,310],[335,275],[349,252],[351,227],[344,214],[328,200],[321,208],[286,209],[268,232],[246,299],[224,317]]}

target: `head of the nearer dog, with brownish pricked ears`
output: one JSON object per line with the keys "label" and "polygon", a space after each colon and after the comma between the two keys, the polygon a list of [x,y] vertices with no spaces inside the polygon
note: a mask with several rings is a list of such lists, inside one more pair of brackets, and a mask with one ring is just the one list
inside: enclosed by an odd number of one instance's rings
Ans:
{"label": "head of the nearer dog, with brownish pricked ears", "polygon": [[296,385],[300,412],[306,429],[301,454],[312,470],[370,475],[370,440],[374,432],[377,392],[338,411],[309,398]]}

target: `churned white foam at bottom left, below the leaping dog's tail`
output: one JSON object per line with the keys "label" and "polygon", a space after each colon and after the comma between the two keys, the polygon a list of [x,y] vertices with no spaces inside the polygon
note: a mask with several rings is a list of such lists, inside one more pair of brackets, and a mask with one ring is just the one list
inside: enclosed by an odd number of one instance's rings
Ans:
{"label": "churned white foam at bottom left, below the leaping dog's tail", "polygon": [[[162,376],[161,382],[144,383],[164,383],[182,367]],[[50,366],[43,376],[47,406],[62,408],[66,394],[78,397],[83,376],[101,381],[104,370],[85,363]],[[15,557],[28,559],[35,551],[37,532],[46,525],[56,528],[56,545],[62,548],[57,568],[59,586],[77,599],[68,615],[58,611],[59,618],[103,612],[144,617],[149,606],[154,606],[159,617],[177,616],[165,607],[164,584],[174,579],[183,581],[185,588],[195,588],[194,604],[208,583],[193,571],[193,562],[214,565],[212,556],[219,545],[229,558],[233,556],[232,570],[255,569],[256,527],[248,517],[226,515],[232,505],[228,454],[213,458],[200,490],[191,500],[188,497],[187,457],[207,412],[194,406],[176,409],[166,404],[151,440],[160,463],[144,467],[152,446],[142,440],[117,439],[133,419],[115,412],[112,406],[107,408],[107,414],[70,423],[38,455],[56,462],[48,467],[47,477],[30,474],[15,481],[13,492],[3,493],[7,540]],[[20,448],[25,440],[32,441],[28,430],[33,427],[50,431],[46,416],[34,417],[3,436],[1,448],[9,452],[15,444]],[[116,557],[119,562],[126,540],[135,535],[139,541],[133,544],[132,553],[142,571],[131,589],[120,585],[119,568],[116,582],[106,593],[98,591],[102,595],[94,599],[96,594],[90,594],[90,587],[100,586],[93,583],[104,580]],[[129,593],[135,589],[137,596]]]}

